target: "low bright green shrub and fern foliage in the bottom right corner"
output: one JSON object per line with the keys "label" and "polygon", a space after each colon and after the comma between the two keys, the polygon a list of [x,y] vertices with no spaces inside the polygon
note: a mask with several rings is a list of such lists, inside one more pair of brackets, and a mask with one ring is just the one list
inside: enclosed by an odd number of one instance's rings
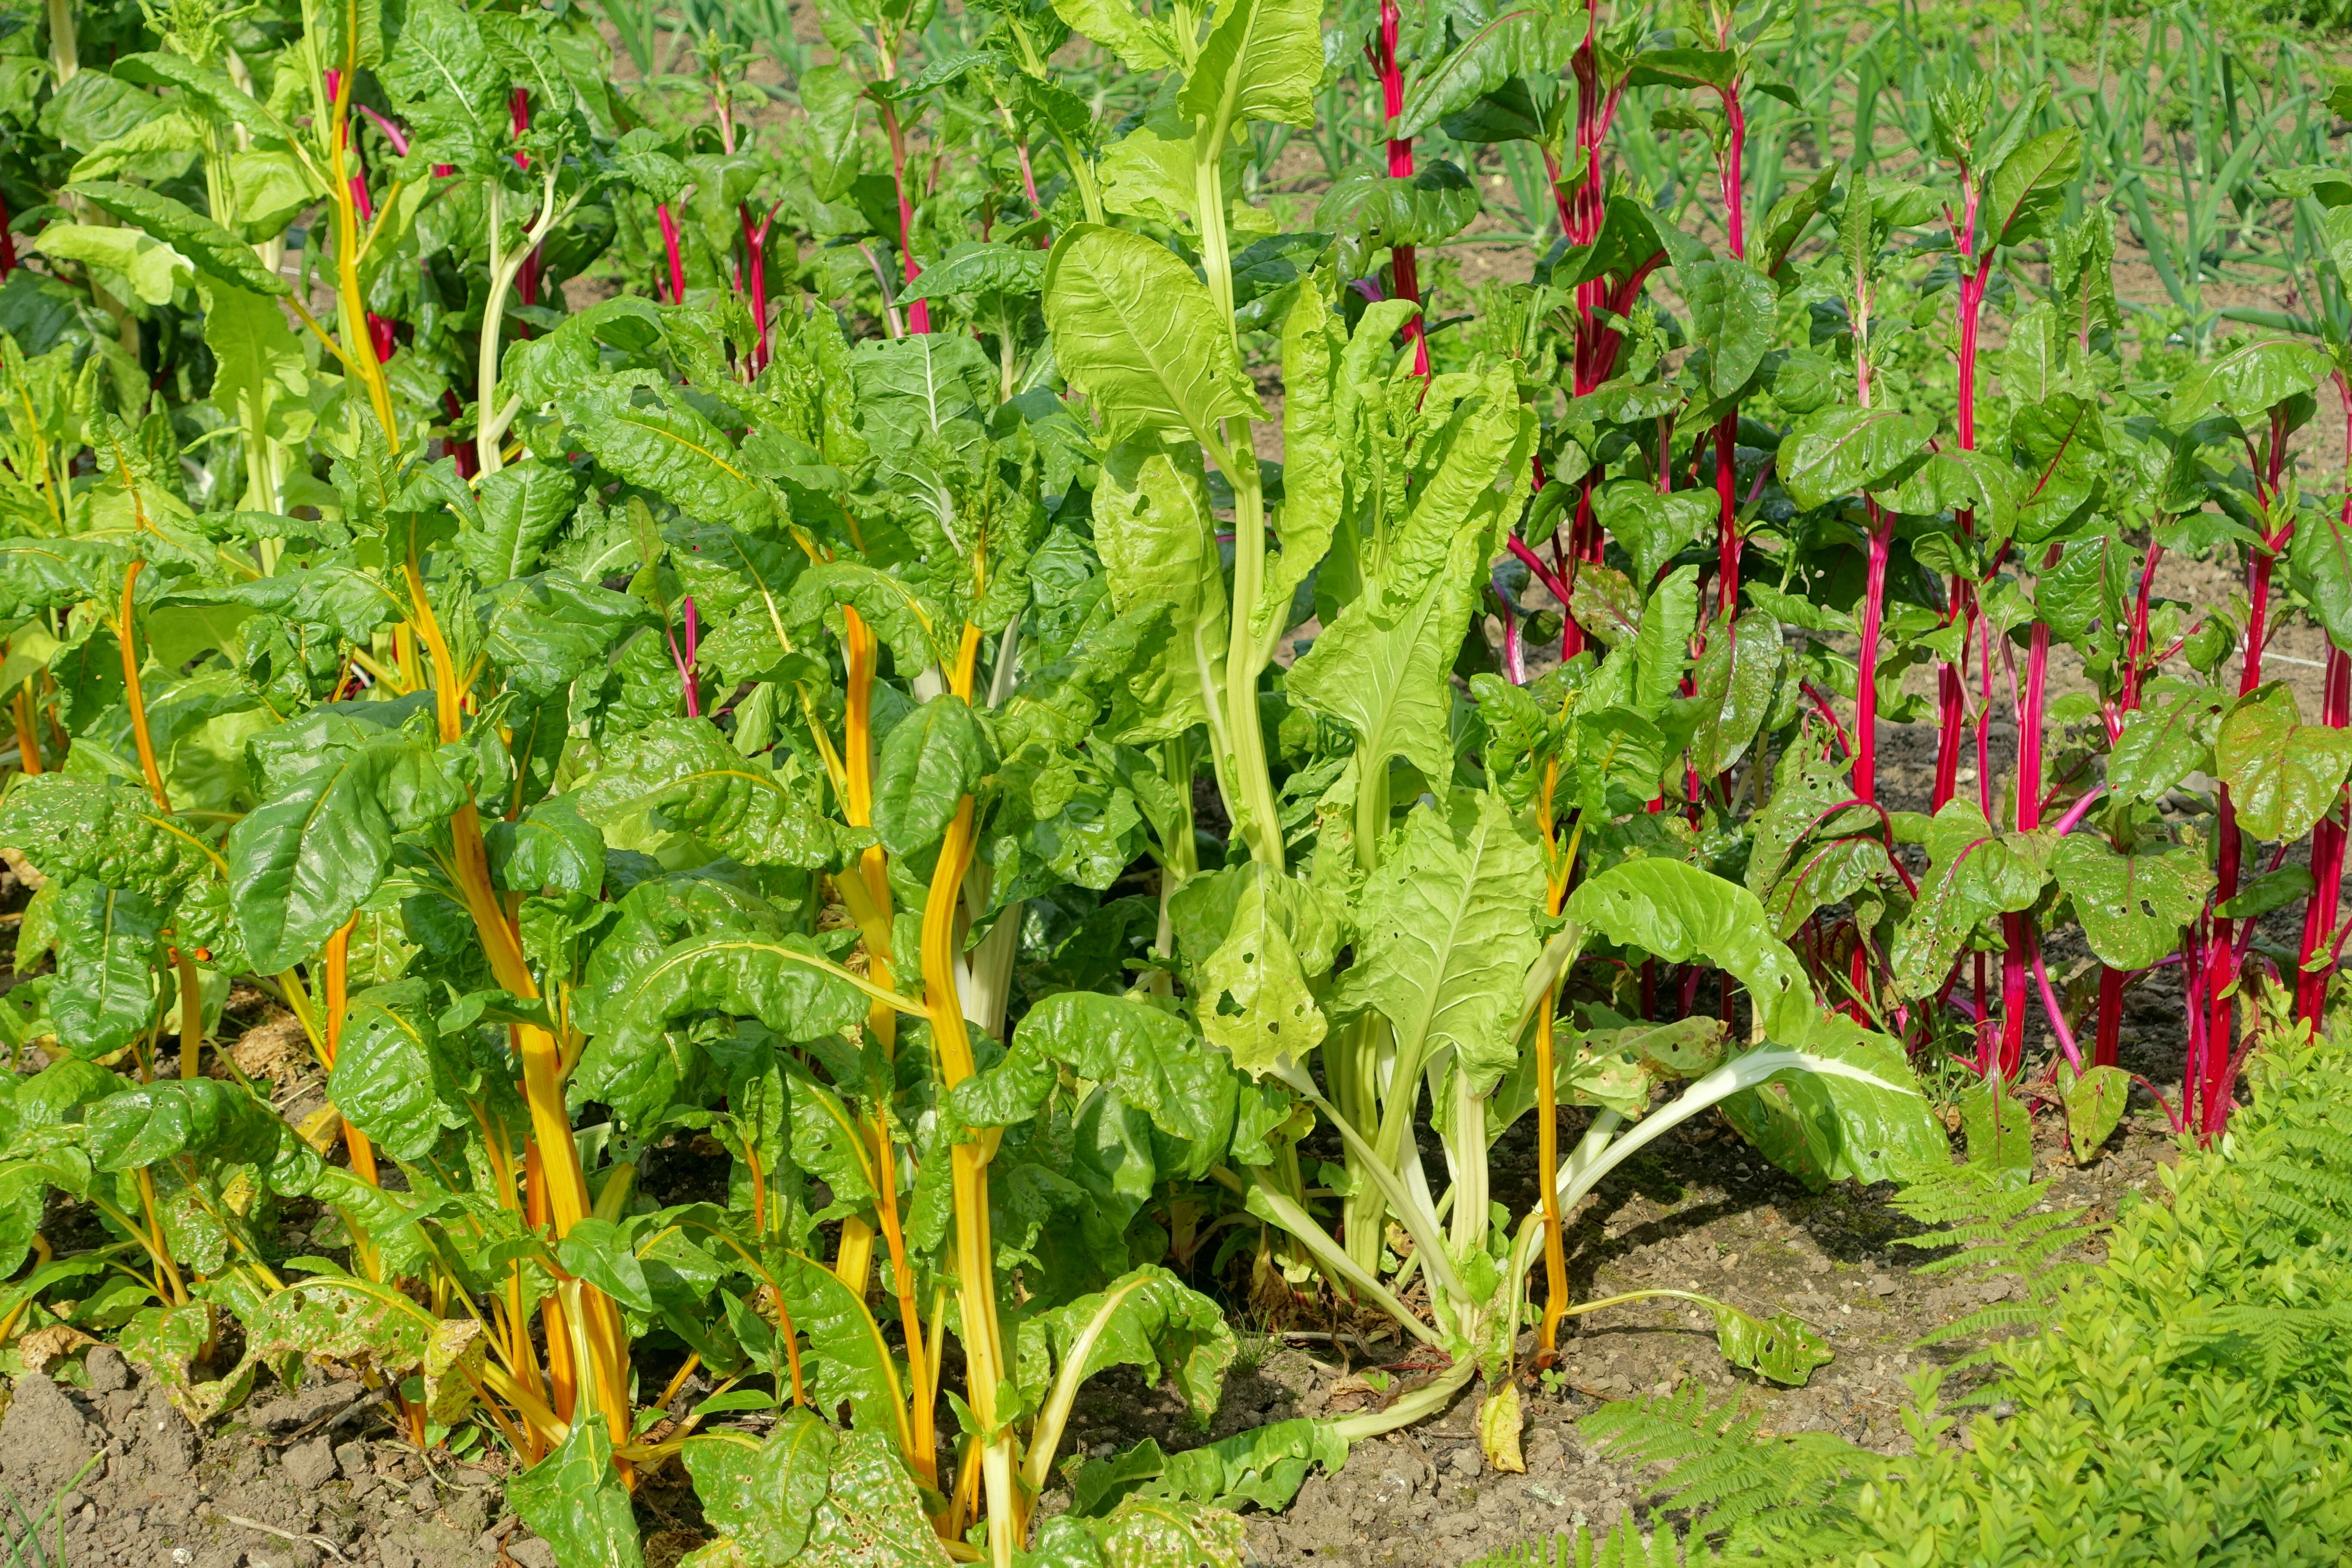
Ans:
{"label": "low bright green shrub and fern foliage in the bottom right corner", "polygon": [[1479,1568],[1677,1549],[1790,1568],[2352,1563],[2352,1051],[2272,1037],[2246,1084],[2230,1135],[2164,1171],[2171,1201],[2126,1201],[2098,1267],[2067,1255],[2091,1229],[2079,1213],[2037,1213],[2046,1192],[1994,1171],[1922,1171],[1898,1199],[1943,1227],[1917,1246],[1957,1248],[1929,1272],[2025,1281],[2023,1302],[1929,1335],[2039,1321],[1959,1363],[1997,1363],[1976,1401],[2016,1415],[1976,1413],[1955,1441],[1952,1366],[1910,1380],[1896,1455],[1766,1439],[1698,1389],[1613,1403],[1585,1434],[1668,1467],[1665,1507],[1698,1512],[1691,1542],[1661,1530],[1644,1547],[1621,1526]]}

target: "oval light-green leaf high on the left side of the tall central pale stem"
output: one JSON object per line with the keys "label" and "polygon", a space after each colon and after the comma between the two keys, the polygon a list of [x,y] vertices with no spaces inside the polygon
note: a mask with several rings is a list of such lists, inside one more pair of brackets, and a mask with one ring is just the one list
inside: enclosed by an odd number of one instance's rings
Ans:
{"label": "oval light-green leaf high on the left side of the tall central pale stem", "polygon": [[1218,421],[1265,418],[1232,327],[1155,240],[1098,223],[1068,228],[1047,261],[1044,320],[1061,374],[1112,435],[1190,430],[1218,444]]}

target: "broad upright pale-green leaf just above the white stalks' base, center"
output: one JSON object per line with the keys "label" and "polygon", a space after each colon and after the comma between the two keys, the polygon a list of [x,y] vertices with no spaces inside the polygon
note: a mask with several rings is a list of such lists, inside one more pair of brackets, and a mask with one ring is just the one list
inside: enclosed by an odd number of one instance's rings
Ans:
{"label": "broad upright pale-green leaf just above the white stalks' base, center", "polygon": [[1364,884],[1355,964],[1341,1009],[1378,1009],[1397,1063],[1454,1051],[1470,1093],[1512,1063],[1519,990],[1541,943],[1543,856],[1526,827],[1482,790],[1416,806]]}

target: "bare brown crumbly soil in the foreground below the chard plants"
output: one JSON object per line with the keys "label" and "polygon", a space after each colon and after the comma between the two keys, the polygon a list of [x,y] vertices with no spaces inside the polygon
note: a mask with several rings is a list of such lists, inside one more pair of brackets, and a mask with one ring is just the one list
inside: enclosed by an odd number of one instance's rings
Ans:
{"label": "bare brown crumbly soil in the foreground below the chard plants", "polygon": [[[2126,1065],[2157,1065],[2161,1006],[2126,1034]],[[1583,1112],[1562,1112],[1573,1135]],[[1526,1126],[1498,1147],[1496,1199],[1534,1201]],[[2105,1152],[2074,1168],[2053,1117],[2042,1119],[2037,1161],[2051,1201],[2114,1215],[2126,1192],[2161,1194],[2171,1161],[2161,1117],[2140,1112]],[[1644,1286],[1698,1291],[1750,1312],[1795,1312],[1835,1349],[1802,1389],[1764,1385],[1724,1366],[1712,1326],[1679,1305],[1637,1302],[1569,1319],[1562,1382],[1522,1385],[1529,1403],[1524,1476],[1486,1472],[1477,1455],[1477,1389],[1449,1413],[1357,1446],[1336,1474],[1315,1476],[1279,1516],[1254,1516],[1251,1556],[1268,1566],[1463,1563],[1534,1533],[1576,1523],[1606,1528],[1625,1509],[1649,1519],[1651,1479],[1602,1458],[1578,1418],[1609,1399],[1665,1392],[1684,1380],[1769,1413],[1776,1432],[1835,1432],[1872,1448],[1903,1441],[1903,1375],[1947,1347],[1915,1340],[2013,1293],[2004,1279],[1936,1279],[1917,1267],[1936,1253],[1896,1246],[1917,1227],[1886,1190],[1806,1192],[1757,1159],[1719,1121],[1661,1138],[1569,1215],[1569,1274],[1578,1300]],[[2091,1248],[2096,1258],[2096,1248]],[[1303,1326],[1301,1326],[1303,1328]],[[1359,1338],[1362,1335],[1362,1338]],[[1364,1378],[1367,1371],[1388,1378]],[[1207,1434],[1176,1399],[1134,1375],[1089,1385],[1063,1460],[1103,1455],[1145,1436],[1169,1450],[1294,1415],[1338,1415],[1411,1387],[1425,1366],[1369,1324],[1244,1335],[1244,1356]],[[750,1420],[746,1425],[757,1425]],[[85,1465],[96,1460],[92,1469]],[[548,1547],[503,1505],[503,1462],[419,1455],[365,1399],[358,1382],[310,1373],[299,1389],[266,1385],[238,1413],[198,1432],[160,1389],[106,1345],[75,1347],[49,1375],[14,1382],[0,1418],[0,1488],[28,1516],[56,1502],[75,1568],[553,1568]],[[701,1509],[675,1467],[637,1497],[647,1556],[668,1568],[706,1540]],[[1061,1507],[1061,1495],[1044,1500]],[[42,1526],[52,1540],[56,1521]]]}

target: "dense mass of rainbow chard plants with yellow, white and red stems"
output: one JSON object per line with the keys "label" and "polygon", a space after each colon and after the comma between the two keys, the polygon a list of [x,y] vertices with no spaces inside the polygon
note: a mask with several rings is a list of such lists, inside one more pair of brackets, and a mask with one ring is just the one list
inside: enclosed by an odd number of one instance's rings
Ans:
{"label": "dense mass of rainbow chard plants with yellow, white and red stems", "polygon": [[[628,87],[569,5],[0,35],[0,1342],[388,1382],[567,1566],[663,1465],[713,1568],[1228,1563],[1472,1380],[1517,1467],[1675,1126],[1900,1180],[1957,1063],[2091,1150],[2147,985],[2211,1138],[2331,1006],[2352,360],[2126,353],[2042,99],[1757,193],[1771,7],[842,0],[788,89],[748,16],[616,7]],[[1494,148],[1562,240],[1425,315]],[[1423,1378],[1063,1462],[1112,1366],[1207,1422],[1244,1298]]]}

